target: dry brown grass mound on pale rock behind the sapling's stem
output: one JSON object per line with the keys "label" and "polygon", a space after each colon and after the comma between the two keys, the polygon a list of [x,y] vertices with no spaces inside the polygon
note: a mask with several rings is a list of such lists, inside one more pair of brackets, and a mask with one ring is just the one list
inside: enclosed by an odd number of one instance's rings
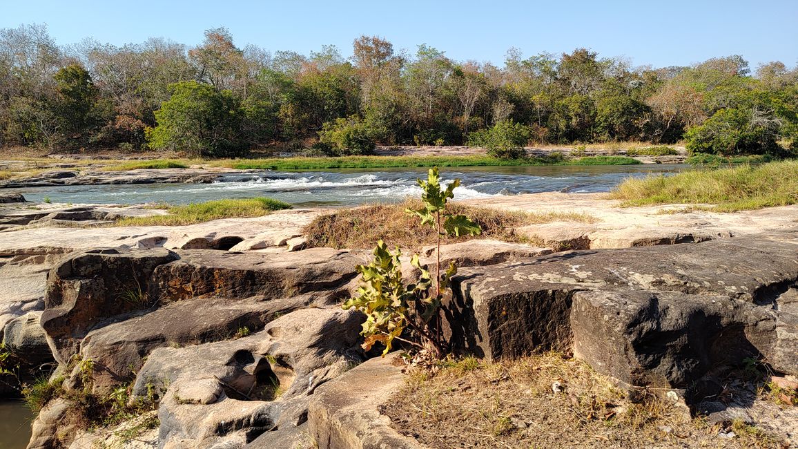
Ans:
{"label": "dry brown grass mound on pale rock behind the sapling's stem", "polygon": [[[372,248],[377,240],[385,241],[389,248],[418,251],[434,244],[435,231],[421,226],[421,221],[405,209],[421,209],[421,201],[408,200],[397,205],[367,205],[342,209],[336,213],[316,218],[304,229],[310,246],[331,248]],[[478,208],[462,203],[450,203],[451,213],[463,214],[480,224],[480,236],[444,237],[444,243],[473,238],[490,238],[520,241],[513,229],[524,224],[550,223],[552,221],[594,222],[595,217],[584,213],[523,213],[497,209]]]}

